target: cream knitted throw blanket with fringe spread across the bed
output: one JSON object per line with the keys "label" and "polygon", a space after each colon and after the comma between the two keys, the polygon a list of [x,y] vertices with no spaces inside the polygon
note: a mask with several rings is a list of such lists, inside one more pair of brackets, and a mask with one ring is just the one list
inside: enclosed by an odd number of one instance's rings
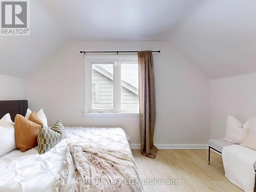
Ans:
{"label": "cream knitted throw blanket with fringe spread across the bed", "polygon": [[139,192],[143,188],[131,154],[70,143],[54,190]]}

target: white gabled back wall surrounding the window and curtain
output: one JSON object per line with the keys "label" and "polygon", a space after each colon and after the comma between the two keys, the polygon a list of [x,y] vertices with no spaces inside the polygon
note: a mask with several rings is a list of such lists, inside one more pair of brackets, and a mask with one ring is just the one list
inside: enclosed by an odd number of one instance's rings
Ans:
{"label": "white gabled back wall surrounding the window and curtain", "polygon": [[25,79],[32,110],[44,108],[49,124],[120,126],[140,143],[139,117],[83,117],[84,57],[80,50],[161,50],[154,54],[155,143],[206,143],[209,138],[210,81],[164,41],[69,41]]}

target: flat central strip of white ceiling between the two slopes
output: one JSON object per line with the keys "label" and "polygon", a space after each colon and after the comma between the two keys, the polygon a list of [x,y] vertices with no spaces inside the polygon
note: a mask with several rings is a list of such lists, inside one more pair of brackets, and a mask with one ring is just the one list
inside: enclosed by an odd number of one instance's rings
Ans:
{"label": "flat central strip of white ceiling between the two slopes", "polygon": [[[72,39],[163,40],[203,0],[46,0]],[[61,6],[60,6],[61,5]]]}

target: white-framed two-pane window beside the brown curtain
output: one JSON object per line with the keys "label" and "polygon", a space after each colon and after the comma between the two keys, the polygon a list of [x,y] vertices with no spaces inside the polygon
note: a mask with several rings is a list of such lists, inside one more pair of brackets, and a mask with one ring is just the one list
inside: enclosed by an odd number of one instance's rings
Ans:
{"label": "white-framed two-pane window beside the brown curtain", "polygon": [[90,55],[85,62],[86,113],[138,113],[138,57]]}

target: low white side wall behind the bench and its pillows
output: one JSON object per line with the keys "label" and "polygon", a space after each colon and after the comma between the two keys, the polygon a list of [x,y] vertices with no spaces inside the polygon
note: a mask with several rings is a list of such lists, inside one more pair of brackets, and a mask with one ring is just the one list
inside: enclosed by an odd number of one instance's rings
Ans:
{"label": "low white side wall behind the bench and its pillows", "polygon": [[211,80],[210,138],[223,138],[228,115],[245,122],[256,115],[256,73]]}

